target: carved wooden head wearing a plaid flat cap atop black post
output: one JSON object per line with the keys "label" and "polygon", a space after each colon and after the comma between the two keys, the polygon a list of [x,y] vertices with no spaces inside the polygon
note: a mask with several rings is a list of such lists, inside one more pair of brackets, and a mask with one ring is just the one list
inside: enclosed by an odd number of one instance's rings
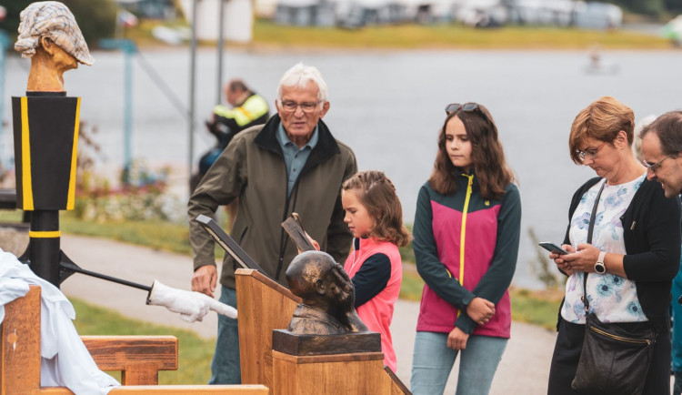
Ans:
{"label": "carved wooden head wearing a plaid flat cap atop black post", "polygon": [[95,62],[74,15],[62,3],[36,2],[21,12],[15,50],[31,57],[29,91],[63,91],[65,71]]}

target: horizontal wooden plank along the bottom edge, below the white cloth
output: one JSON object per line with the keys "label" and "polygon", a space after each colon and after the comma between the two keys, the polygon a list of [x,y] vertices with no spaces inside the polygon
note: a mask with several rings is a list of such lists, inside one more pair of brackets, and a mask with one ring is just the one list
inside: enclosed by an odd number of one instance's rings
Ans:
{"label": "horizontal wooden plank along the bottom edge, below the white cloth", "polygon": [[[157,385],[157,386],[126,386],[109,391],[109,395],[267,395],[267,387],[262,385]],[[45,387],[25,392],[26,395],[73,395],[64,387]]]}

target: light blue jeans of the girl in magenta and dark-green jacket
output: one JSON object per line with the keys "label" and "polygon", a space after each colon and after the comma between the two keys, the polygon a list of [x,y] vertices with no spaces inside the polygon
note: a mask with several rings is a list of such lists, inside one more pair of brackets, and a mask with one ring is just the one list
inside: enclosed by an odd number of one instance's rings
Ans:
{"label": "light blue jeans of the girl in magenta and dark-green jacket", "polygon": [[[489,336],[469,336],[459,361],[456,395],[486,395],[490,391],[506,341]],[[412,393],[442,394],[457,352],[447,348],[447,333],[416,332],[410,382]]]}

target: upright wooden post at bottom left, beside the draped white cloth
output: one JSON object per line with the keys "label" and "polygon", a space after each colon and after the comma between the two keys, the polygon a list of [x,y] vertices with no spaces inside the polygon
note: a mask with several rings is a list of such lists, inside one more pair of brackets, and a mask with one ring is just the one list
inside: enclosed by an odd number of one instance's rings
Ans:
{"label": "upright wooden post at bottom left, beside the draped white cloth", "polygon": [[0,329],[0,394],[30,393],[40,387],[40,287],[5,305]]}

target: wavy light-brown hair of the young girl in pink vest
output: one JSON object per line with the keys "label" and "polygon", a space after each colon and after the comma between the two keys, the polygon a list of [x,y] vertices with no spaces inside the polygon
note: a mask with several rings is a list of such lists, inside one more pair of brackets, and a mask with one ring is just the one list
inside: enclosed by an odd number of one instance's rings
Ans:
{"label": "wavy light-brown hair of the young girl in pink vest", "polygon": [[381,171],[368,170],[346,179],[343,190],[353,189],[360,201],[375,220],[372,237],[389,241],[398,247],[409,244],[412,236],[403,225],[403,207],[394,187]]}

